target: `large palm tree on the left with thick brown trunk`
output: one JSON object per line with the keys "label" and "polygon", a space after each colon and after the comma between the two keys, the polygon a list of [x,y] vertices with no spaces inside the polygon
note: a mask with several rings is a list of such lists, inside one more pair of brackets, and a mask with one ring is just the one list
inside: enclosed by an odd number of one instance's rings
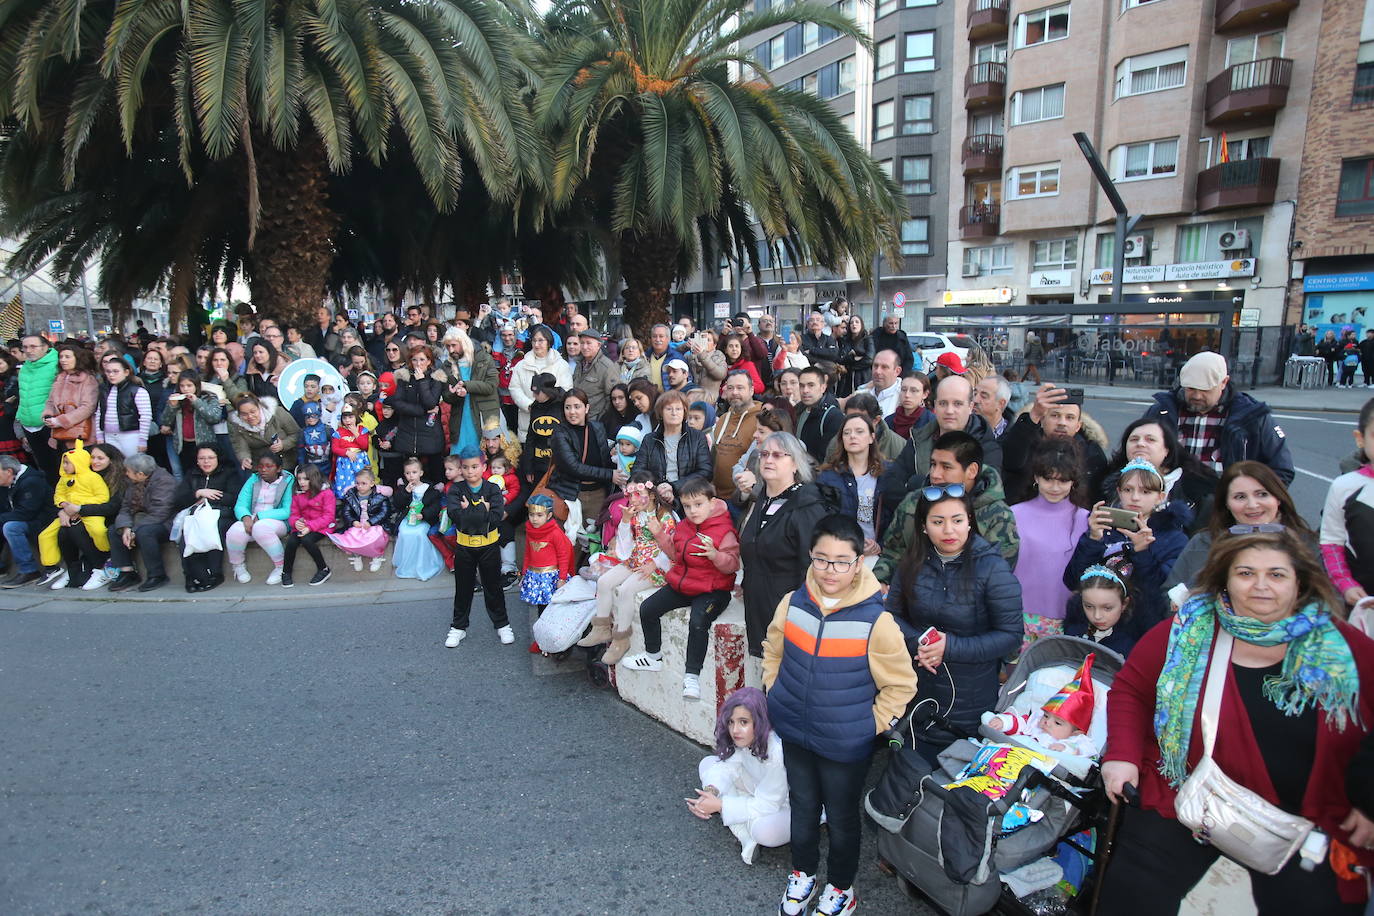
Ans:
{"label": "large palm tree on the left with thick brown trunk", "polygon": [[511,25],[488,0],[11,0],[0,119],[58,147],[69,188],[106,168],[88,141],[110,124],[126,155],[169,133],[192,187],[235,162],[253,299],[306,313],[335,253],[331,170],[408,158],[440,209],[464,159],[499,201],[539,187]]}

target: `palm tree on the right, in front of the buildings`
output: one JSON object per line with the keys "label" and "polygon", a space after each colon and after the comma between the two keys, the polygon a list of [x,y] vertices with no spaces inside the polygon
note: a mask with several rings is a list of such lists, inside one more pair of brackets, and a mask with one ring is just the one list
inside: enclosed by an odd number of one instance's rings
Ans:
{"label": "palm tree on the right, in front of the buildings", "polygon": [[824,102],[771,85],[743,49],[783,23],[864,36],[834,5],[753,5],[562,0],[544,23],[536,115],[554,144],[551,196],[609,216],[639,332],[666,319],[703,227],[736,261],[752,260],[752,222],[768,243],[831,269],[853,260],[864,276],[875,253],[899,251],[896,185]]}

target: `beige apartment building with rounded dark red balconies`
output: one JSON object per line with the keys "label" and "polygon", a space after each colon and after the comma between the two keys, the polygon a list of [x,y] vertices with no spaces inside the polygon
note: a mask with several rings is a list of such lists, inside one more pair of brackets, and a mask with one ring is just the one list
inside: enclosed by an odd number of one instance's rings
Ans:
{"label": "beige apartment building with rounded dark red balconies", "polygon": [[[1208,346],[1271,378],[1322,4],[951,5],[949,279],[926,327],[1013,364],[1037,331],[1069,375],[1162,382]],[[1114,211],[1077,132],[1140,217],[1107,309]]]}

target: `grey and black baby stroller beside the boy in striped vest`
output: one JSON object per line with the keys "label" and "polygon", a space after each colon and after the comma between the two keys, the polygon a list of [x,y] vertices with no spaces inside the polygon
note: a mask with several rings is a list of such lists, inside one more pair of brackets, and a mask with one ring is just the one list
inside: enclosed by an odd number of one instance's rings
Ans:
{"label": "grey and black baby stroller beside the boy in striped vest", "polygon": [[[1106,695],[1124,661],[1091,640],[1048,636],[1033,643],[998,694],[995,711],[1037,709],[1073,677],[1090,652],[1096,654],[1090,733],[1102,747]],[[959,739],[940,754],[940,769],[932,772],[914,748],[915,732],[932,718],[948,728],[930,715],[929,707],[918,707],[889,733],[888,769],[864,797],[864,809],[882,828],[879,868],[896,872],[904,891],[929,898],[949,916],[977,916],[999,906],[1003,912],[1032,912],[1015,894],[1003,890],[1002,875],[1052,857],[1061,840],[1069,842],[1084,828],[1106,823],[1109,805],[1096,762],[1050,751],[984,725],[982,736],[991,743],[1015,750],[984,747],[973,736]],[[1021,748],[1051,759],[1029,765]],[[976,757],[987,764],[984,772],[1002,779],[1002,787],[984,791],[988,787],[984,781],[976,791],[963,787],[952,791]],[[1028,814],[1040,817],[1028,823]],[[1069,845],[1087,860],[1096,860],[1085,845]]]}

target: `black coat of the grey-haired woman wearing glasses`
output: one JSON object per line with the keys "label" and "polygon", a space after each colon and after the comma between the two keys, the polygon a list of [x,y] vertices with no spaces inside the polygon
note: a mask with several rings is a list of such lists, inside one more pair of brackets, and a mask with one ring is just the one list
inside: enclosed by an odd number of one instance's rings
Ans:
{"label": "black coat of the grey-haired woman wearing glasses", "polygon": [[767,504],[767,496],[758,489],[753,511],[739,526],[739,562],[745,569],[745,632],[749,636],[749,654],[756,658],[763,658],[764,637],[778,602],[807,578],[807,567],[811,566],[811,530],[833,511],[815,483],[802,483],[764,525]]}

